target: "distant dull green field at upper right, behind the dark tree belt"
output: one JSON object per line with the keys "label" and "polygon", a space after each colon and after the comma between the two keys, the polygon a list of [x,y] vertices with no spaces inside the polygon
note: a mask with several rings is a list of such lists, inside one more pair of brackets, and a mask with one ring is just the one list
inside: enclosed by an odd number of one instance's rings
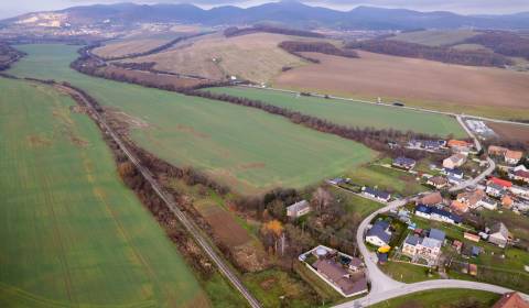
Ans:
{"label": "distant dull green field at upper right, behind the dark tree belt", "polygon": [[453,45],[479,34],[473,30],[424,30],[399,33],[388,40],[428,46]]}

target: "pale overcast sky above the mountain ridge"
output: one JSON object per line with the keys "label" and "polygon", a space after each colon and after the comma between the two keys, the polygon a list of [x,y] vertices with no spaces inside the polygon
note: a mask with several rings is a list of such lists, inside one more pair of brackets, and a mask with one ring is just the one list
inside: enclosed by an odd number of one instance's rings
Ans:
{"label": "pale overcast sky above the mountain ridge", "polygon": [[[349,10],[357,6],[374,6],[382,8],[406,8],[419,11],[445,10],[463,14],[501,14],[529,11],[529,0],[300,0],[310,6],[322,6],[338,10]],[[251,7],[266,0],[0,0],[0,18],[20,13],[56,10],[78,4],[112,3],[112,2],[191,2],[203,8],[234,4]]]}

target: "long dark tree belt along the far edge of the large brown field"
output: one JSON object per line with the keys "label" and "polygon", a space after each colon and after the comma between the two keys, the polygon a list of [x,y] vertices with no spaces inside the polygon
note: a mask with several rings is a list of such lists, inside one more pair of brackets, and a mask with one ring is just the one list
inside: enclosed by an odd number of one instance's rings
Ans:
{"label": "long dark tree belt along the far edge of the large brown field", "polygon": [[469,65],[505,67],[512,61],[487,51],[457,51],[451,47],[427,46],[395,40],[368,40],[347,43],[346,48],[363,50],[392,56],[424,58],[430,61]]}

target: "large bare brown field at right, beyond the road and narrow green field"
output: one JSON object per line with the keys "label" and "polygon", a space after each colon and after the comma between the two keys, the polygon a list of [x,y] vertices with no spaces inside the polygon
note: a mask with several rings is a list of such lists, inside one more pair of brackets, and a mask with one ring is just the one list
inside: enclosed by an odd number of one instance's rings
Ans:
{"label": "large bare brown field at right, beyond the road and narrow green field", "polygon": [[281,74],[274,86],[504,119],[529,119],[529,74],[359,52],[359,59],[307,53],[321,64]]}

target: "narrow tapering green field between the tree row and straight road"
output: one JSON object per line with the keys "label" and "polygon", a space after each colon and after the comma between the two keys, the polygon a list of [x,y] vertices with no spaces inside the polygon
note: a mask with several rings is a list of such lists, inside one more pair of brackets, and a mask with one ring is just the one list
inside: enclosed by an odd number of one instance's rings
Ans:
{"label": "narrow tapering green field between the tree row and straight road", "polygon": [[289,108],[348,127],[414,131],[440,136],[446,136],[451,133],[457,138],[466,136],[455,119],[441,114],[337,99],[299,97],[292,92],[266,89],[225,87],[208,90],[262,100],[270,105]]}

